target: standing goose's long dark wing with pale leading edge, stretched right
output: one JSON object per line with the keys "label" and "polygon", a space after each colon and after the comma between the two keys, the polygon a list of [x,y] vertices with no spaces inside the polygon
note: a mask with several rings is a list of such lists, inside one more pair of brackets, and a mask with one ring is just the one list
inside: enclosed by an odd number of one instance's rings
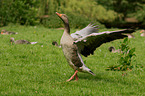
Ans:
{"label": "standing goose's long dark wing with pale leading edge, stretched right", "polygon": [[110,42],[116,39],[122,39],[127,37],[122,33],[133,33],[134,29],[124,29],[118,31],[105,31],[102,33],[92,33],[88,36],[80,38],[77,41],[74,41],[74,44],[78,46],[78,49],[82,55],[87,57],[90,54],[93,54],[97,47],[103,43]]}

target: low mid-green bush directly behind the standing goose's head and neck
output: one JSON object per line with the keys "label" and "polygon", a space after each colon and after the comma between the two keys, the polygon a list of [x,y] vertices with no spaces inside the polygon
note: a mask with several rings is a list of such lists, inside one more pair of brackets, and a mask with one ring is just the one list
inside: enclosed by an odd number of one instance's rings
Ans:
{"label": "low mid-green bush directly behind the standing goose's head and neck", "polygon": [[[73,14],[68,13],[67,16],[69,18],[69,23],[70,23],[71,28],[84,28],[89,23],[91,23],[90,19],[83,17],[81,15],[73,15]],[[93,21],[92,23],[95,23],[96,25],[99,25],[102,28],[105,27],[104,25],[100,24],[97,21]],[[51,15],[49,18],[44,18],[42,20],[42,24],[47,28],[64,27],[63,22],[58,18],[58,16],[56,14]]]}

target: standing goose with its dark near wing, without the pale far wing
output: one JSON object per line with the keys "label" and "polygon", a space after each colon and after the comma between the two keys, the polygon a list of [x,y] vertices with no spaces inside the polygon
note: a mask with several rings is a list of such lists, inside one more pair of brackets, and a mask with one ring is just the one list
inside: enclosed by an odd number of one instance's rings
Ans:
{"label": "standing goose with its dark near wing, without the pale far wing", "polygon": [[86,67],[81,58],[81,54],[87,57],[88,55],[93,54],[96,48],[103,43],[127,37],[122,33],[134,32],[133,29],[124,29],[119,31],[92,33],[74,41],[74,39],[70,36],[68,17],[65,14],[59,14],[57,12],[56,14],[64,23],[64,33],[60,40],[64,56],[67,59],[69,65],[75,70],[75,73],[67,81],[72,80],[74,77],[76,80],[78,80],[78,71],[95,75],[88,67]]}

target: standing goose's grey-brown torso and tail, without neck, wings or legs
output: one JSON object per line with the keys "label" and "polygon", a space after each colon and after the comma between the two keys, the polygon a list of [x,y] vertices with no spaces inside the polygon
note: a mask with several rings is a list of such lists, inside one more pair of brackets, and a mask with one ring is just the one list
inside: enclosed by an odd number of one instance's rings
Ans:
{"label": "standing goose's grey-brown torso and tail, without neck, wings or legs", "polygon": [[[87,68],[82,60],[82,57],[78,51],[77,45],[73,44],[73,38],[64,32],[62,35],[60,44],[65,58],[67,59],[69,65],[76,71],[91,73],[91,70]],[[94,74],[93,74],[94,75]]]}

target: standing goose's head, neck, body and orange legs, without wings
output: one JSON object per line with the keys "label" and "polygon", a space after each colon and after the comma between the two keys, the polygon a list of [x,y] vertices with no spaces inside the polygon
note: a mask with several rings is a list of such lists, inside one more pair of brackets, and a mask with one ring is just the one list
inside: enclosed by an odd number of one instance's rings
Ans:
{"label": "standing goose's head, neck, body and orange legs, without wings", "polygon": [[67,81],[70,81],[76,77],[76,80],[78,80],[77,72],[88,72],[92,75],[95,75],[89,68],[87,68],[81,58],[81,55],[78,51],[77,45],[73,44],[74,40],[70,36],[70,28],[68,24],[68,19],[66,18],[66,15],[61,16],[61,14],[56,13],[60,18],[63,18],[65,30],[60,40],[60,45],[62,47],[64,56],[69,63],[69,65],[75,70],[74,75]]}

